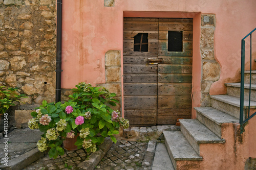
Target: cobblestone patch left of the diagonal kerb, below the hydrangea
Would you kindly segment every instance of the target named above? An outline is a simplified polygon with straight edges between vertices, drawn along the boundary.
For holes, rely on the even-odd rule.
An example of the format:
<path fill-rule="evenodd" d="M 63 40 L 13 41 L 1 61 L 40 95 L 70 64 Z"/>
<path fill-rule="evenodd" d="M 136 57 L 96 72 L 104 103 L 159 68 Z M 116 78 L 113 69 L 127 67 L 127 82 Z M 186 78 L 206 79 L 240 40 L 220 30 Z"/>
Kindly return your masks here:
<path fill-rule="evenodd" d="M 53 170 L 53 169 L 68 169 L 66 166 L 72 166 L 71 169 L 79 169 L 77 165 L 86 160 L 89 155 L 85 150 L 67 151 L 62 156 L 52 159 L 49 155 L 40 158 L 36 162 L 24 168 L 24 170 Z"/>

